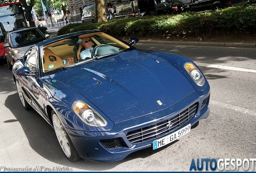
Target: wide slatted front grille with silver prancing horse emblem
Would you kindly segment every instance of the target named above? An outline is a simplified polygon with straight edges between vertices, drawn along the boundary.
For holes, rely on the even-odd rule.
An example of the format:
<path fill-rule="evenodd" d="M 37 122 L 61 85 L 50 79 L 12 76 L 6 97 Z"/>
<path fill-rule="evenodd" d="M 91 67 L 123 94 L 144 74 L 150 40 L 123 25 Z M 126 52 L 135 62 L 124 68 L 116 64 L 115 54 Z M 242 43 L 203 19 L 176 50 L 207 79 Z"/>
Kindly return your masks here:
<path fill-rule="evenodd" d="M 130 131 L 127 133 L 126 137 L 130 141 L 130 143 L 142 143 L 145 141 L 155 139 L 157 137 L 161 137 L 166 133 L 169 133 L 177 129 L 178 127 L 181 127 L 190 119 L 192 119 L 192 117 L 196 113 L 197 107 L 198 103 L 195 103 L 182 113 L 175 115 L 169 120 L 148 127 L 144 127 L 142 129 L 138 129 L 135 131 Z"/>

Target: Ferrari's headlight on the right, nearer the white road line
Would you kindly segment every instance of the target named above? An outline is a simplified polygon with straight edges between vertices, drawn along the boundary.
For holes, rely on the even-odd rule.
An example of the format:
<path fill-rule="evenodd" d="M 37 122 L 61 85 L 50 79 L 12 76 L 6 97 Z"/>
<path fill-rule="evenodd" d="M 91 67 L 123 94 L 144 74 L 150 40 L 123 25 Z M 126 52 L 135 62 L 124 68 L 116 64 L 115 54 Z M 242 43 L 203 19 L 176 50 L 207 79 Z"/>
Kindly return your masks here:
<path fill-rule="evenodd" d="M 204 77 L 201 72 L 196 68 L 196 66 L 190 62 L 186 62 L 184 64 L 184 68 L 188 72 L 188 74 L 192 77 L 192 79 L 196 82 L 198 86 L 204 85 Z"/>

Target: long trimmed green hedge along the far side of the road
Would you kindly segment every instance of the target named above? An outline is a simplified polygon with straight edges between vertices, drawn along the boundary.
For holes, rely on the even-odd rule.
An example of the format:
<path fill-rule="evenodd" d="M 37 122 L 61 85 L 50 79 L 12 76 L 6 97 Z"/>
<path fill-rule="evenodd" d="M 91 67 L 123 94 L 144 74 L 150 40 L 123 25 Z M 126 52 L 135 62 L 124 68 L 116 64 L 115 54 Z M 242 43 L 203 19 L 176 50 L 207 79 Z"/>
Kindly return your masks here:
<path fill-rule="evenodd" d="M 102 23 L 78 23 L 64 26 L 58 35 L 98 29 L 115 36 L 181 37 L 231 32 L 256 33 L 256 4 L 217 11 L 189 12 L 178 15 L 115 19 Z"/>

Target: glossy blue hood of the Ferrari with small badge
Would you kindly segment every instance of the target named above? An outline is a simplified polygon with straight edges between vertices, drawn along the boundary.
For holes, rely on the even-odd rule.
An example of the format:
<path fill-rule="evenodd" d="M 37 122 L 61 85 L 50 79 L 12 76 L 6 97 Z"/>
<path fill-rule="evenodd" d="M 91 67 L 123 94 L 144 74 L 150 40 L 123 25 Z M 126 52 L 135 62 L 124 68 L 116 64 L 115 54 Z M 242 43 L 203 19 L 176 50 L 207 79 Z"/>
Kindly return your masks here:
<path fill-rule="evenodd" d="M 194 91 L 188 79 L 167 61 L 138 50 L 58 72 L 51 78 L 83 95 L 114 123 L 160 111 Z"/>

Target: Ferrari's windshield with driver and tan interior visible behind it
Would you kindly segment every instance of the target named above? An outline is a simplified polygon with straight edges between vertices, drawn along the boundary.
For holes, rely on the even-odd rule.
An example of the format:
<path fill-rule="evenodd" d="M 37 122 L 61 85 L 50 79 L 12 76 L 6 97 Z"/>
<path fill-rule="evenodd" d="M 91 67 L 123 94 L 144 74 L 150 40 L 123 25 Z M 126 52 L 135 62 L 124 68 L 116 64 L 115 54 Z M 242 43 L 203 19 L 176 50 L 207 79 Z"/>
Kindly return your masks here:
<path fill-rule="evenodd" d="M 103 32 L 66 38 L 41 48 L 43 72 L 64 70 L 129 50 L 128 44 Z"/>

